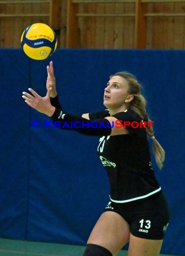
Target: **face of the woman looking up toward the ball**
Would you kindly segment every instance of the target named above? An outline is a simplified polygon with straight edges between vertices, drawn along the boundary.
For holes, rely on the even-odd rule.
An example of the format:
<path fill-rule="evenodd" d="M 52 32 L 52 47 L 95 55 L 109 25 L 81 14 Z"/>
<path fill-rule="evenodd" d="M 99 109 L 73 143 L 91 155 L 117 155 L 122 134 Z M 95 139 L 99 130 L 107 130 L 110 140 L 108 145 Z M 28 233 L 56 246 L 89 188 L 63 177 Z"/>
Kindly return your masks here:
<path fill-rule="evenodd" d="M 128 96 L 127 81 L 120 76 L 113 76 L 110 78 L 105 88 L 103 104 L 108 109 L 119 109 L 124 107 L 125 100 Z"/>

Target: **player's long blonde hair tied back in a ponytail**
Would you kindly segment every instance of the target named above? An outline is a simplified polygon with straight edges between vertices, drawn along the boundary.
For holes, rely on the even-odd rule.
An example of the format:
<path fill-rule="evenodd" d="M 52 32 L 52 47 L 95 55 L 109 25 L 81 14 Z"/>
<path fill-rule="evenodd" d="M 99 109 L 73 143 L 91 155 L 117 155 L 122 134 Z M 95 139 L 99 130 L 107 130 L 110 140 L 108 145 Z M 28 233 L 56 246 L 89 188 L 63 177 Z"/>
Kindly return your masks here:
<path fill-rule="evenodd" d="M 128 72 L 118 72 L 115 73 L 115 75 L 122 77 L 128 82 L 128 93 L 134 96 L 132 101 L 129 102 L 129 108 L 140 115 L 143 121 L 150 121 L 150 118 L 146 112 L 146 100 L 141 94 L 141 85 L 137 82 L 136 77 Z M 159 169 L 162 169 L 165 159 L 165 151 L 163 150 L 163 147 L 160 145 L 159 141 L 155 139 L 154 129 L 152 127 L 150 128 L 150 123 L 147 123 L 146 133 L 153 141 L 152 148 L 155 161 Z"/>

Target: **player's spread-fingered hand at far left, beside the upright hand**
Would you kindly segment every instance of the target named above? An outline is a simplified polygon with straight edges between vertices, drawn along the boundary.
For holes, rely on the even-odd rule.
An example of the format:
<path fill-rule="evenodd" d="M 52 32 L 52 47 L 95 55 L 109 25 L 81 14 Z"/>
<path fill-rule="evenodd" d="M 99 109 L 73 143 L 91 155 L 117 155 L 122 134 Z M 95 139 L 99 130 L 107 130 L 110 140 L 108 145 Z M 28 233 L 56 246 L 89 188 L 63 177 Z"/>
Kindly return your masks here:
<path fill-rule="evenodd" d="M 33 96 L 30 93 L 23 92 L 22 97 L 25 99 L 27 105 L 31 106 L 40 113 L 43 113 L 51 117 L 55 111 L 55 107 L 53 107 L 50 103 L 51 89 L 52 88 L 48 88 L 46 96 L 41 97 L 33 89 L 29 88 L 28 90 L 33 94 Z"/>

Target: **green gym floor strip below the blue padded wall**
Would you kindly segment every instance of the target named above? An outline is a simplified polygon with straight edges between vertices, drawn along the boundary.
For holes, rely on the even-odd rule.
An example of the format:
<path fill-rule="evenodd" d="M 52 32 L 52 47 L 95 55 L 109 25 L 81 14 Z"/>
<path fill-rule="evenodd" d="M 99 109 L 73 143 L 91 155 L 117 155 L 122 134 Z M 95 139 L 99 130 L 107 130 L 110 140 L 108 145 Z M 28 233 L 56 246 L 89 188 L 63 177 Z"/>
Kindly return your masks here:
<path fill-rule="evenodd" d="M 82 256 L 83 252 L 84 246 L 0 238 L 0 256 Z M 127 256 L 127 251 L 121 251 L 117 256 Z"/>

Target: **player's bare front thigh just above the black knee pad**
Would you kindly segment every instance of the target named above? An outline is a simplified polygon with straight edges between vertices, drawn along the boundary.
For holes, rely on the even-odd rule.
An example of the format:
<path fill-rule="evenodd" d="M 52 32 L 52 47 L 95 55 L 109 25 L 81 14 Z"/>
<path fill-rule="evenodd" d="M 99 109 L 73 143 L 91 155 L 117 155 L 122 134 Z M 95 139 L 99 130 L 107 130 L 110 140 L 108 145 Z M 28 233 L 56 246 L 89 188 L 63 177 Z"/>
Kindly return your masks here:
<path fill-rule="evenodd" d="M 105 247 L 114 255 L 128 243 L 129 236 L 129 225 L 122 216 L 116 212 L 104 212 L 94 226 L 88 243 Z"/>

